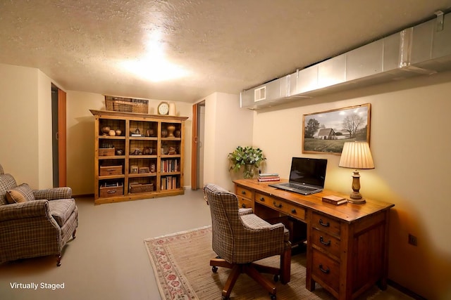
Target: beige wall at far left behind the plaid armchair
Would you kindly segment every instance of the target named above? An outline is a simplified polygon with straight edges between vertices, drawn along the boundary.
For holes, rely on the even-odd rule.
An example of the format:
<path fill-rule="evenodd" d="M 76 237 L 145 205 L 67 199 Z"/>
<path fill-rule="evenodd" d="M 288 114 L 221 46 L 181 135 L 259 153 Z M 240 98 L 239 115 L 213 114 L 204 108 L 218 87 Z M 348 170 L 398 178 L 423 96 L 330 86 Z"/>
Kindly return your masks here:
<path fill-rule="evenodd" d="M 18 184 L 51 188 L 51 79 L 0 64 L 0 164 Z"/>

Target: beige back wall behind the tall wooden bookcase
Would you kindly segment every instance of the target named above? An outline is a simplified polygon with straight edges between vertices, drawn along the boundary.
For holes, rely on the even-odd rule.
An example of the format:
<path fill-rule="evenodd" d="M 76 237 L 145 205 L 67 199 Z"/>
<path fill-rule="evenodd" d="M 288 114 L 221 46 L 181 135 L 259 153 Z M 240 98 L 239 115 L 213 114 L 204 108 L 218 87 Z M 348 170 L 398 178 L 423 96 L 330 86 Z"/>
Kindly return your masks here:
<path fill-rule="evenodd" d="M 160 100 L 149 100 L 149 113 L 155 114 Z M 191 183 L 192 104 L 175 102 L 178 116 L 185 121 L 184 185 Z M 104 96 L 80 91 L 67 92 L 68 185 L 74 195 L 94 193 L 94 116 L 89 110 L 104 110 Z"/>

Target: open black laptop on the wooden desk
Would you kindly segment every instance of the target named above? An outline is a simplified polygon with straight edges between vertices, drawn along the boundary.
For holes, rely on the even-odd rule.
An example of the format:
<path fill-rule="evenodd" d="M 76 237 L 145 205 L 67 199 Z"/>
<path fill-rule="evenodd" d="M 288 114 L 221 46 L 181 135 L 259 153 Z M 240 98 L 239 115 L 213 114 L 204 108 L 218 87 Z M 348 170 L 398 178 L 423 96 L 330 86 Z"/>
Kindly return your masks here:
<path fill-rule="evenodd" d="M 288 183 L 273 183 L 269 186 L 289 190 L 302 195 L 321 192 L 326 180 L 327 159 L 293 157 Z"/>

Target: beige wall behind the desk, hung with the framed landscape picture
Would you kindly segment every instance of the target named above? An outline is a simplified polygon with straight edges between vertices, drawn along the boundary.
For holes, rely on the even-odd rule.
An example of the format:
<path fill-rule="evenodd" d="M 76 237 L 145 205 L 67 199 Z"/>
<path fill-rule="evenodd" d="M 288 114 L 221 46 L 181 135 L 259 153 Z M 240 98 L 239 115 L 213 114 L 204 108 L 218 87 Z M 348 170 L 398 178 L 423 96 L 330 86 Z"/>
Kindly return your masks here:
<path fill-rule="evenodd" d="M 267 171 L 288 178 L 294 156 L 328 159 L 326 188 L 351 191 L 352 170 L 338 155 L 302 154 L 302 115 L 371 103 L 371 152 L 362 170 L 365 197 L 395 204 L 390 219 L 389 278 L 427 299 L 451 299 L 451 72 L 299 100 L 254 115 L 254 144 Z M 418 246 L 407 244 L 407 235 Z"/>

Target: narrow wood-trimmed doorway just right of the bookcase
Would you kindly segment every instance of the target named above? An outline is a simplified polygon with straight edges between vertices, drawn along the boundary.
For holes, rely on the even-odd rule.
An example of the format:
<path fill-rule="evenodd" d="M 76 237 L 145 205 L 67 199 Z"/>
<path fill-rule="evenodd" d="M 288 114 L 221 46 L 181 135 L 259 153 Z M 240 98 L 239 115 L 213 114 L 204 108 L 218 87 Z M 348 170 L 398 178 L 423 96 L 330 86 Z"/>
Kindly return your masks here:
<path fill-rule="evenodd" d="M 192 105 L 191 189 L 204 187 L 205 100 Z"/>

